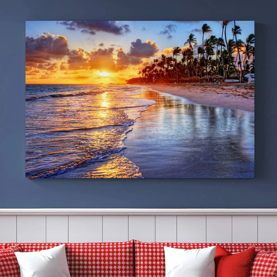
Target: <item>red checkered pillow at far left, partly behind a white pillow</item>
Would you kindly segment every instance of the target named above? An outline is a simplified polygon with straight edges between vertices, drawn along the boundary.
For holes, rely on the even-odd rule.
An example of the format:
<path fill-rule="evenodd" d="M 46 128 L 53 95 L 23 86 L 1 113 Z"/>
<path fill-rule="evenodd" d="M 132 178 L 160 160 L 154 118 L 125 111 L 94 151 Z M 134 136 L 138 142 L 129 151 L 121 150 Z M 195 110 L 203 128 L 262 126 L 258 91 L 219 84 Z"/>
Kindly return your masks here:
<path fill-rule="evenodd" d="M 20 245 L 0 249 L 0 276 L 20 277 L 20 268 L 14 252 L 23 252 Z"/>

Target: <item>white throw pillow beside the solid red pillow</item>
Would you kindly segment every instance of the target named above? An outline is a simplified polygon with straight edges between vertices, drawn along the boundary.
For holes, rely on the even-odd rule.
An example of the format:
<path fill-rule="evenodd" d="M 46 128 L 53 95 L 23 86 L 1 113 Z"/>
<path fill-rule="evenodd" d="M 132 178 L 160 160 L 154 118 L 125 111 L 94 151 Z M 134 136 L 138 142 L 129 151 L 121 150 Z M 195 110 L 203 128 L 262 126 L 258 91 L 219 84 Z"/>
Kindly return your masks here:
<path fill-rule="evenodd" d="M 166 277 L 214 277 L 216 246 L 201 249 L 164 247 Z"/>

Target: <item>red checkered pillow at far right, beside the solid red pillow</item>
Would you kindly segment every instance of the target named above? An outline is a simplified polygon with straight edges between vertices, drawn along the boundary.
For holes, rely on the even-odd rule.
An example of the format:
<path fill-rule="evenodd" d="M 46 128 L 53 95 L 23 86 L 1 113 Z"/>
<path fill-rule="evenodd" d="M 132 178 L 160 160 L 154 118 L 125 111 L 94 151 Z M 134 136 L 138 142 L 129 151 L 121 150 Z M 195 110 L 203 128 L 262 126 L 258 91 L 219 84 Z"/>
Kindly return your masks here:
<path fill-rule="evenodd" d="M 249 277 L 276 277 L 277 252 L 260 251 L 254 255 Z"/>

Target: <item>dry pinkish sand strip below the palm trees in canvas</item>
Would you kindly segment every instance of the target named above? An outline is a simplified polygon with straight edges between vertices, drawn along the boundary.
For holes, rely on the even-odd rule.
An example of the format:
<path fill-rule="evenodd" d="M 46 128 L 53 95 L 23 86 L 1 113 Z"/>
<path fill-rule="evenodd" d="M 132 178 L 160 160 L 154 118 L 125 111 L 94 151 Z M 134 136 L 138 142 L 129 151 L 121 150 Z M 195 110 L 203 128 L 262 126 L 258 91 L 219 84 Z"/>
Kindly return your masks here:
<path fill-rule="evenodd" d="M 142 84 L 146 88 L 187 98 L 201 105 L 254 112 L 253 84 Z"/>

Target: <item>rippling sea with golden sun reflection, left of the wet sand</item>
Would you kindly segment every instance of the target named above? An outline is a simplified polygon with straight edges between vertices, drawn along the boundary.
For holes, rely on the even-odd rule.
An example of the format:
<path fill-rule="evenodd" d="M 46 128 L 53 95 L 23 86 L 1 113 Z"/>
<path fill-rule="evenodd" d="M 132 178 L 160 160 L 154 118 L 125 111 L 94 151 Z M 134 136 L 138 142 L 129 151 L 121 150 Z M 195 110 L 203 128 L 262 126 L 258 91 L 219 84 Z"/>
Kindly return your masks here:
<path fill-rule="evenodd" d="M 26 85 L 26 177 L 131 178 L 124 139 L 155 101 L 125 85 Z"/>

